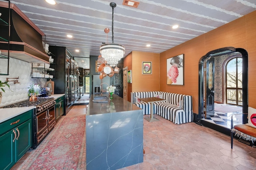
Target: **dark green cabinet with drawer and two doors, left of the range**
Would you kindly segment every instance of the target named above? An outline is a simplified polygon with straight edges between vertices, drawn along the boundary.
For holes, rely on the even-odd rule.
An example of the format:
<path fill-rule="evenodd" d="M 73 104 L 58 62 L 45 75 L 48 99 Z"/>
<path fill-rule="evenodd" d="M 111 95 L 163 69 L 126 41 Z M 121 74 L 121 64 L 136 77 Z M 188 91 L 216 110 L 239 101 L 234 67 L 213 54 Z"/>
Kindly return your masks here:
<path fill-rule="evenodd" d="M 32 113 L 0 123 L 0 169 L 10 169 L 32 146 Z"/>

